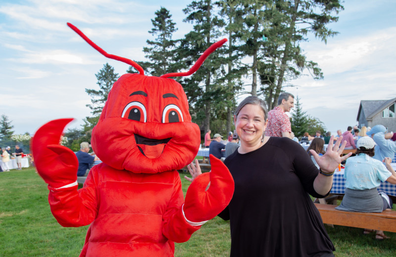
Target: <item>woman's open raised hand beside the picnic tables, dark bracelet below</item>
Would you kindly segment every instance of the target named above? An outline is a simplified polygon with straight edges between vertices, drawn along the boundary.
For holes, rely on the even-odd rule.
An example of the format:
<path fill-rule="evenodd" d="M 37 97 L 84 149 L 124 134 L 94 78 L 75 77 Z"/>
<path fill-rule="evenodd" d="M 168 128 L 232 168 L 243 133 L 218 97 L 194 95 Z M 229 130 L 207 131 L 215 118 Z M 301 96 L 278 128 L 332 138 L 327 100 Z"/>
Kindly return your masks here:
<path fill-rule="evenodd" d="M 313 155 L 313 158 L 315 158 L 316 163 L 319 165 L 320 169 L 323 172 L 326 173 L 331 173 L 335 171 L 338 167 L 338 165 L 346 160 L 349 156 L 352 155 L 352 153 L 348 153 L 347 155 L 344 155 L 341 157 L 340 155 L 343 153 L 345 145 L 347 144 L 347 141 L 344 141 L 341 144 L 341 141 L 343 139 L 343 136 L 340 136 L 337 138 L 336 143 L 333 146 L 334 143 L 334 135 L 330 137 L 329 144 L 327 146 L 327 151 L 326 153 L 322 156 L 319 157 L 319 155 L 314 151 L 314 150 L 309 150 L 310 153 Z M 341 144 L 341 146 L 340 146 Z"/>

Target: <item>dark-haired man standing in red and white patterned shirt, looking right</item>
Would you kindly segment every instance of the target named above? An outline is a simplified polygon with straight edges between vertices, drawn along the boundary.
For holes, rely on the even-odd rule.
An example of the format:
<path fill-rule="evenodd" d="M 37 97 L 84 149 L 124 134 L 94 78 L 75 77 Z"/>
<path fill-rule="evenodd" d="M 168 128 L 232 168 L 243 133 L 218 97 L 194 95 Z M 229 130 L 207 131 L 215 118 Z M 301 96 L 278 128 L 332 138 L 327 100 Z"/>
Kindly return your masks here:
<path fill-rule="evenodd" d="M 266 136 L 294 138 L 290 118 L 285 112 L 290 112 L 294 107 L 294 95 L 283 92 L 278 97 L 278 106 L 268 112 L 268 125 L 265 129 Z"/>

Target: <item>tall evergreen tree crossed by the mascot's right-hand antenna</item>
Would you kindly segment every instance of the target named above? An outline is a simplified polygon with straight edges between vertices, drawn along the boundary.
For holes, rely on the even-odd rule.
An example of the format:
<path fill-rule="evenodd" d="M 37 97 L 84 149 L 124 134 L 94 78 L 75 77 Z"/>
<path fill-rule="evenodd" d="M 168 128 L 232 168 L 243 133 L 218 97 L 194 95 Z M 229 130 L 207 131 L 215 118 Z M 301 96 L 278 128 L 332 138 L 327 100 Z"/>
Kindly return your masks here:
<path fill-rule="evenodd" d="M 179 68 L 185 69 L 191 67 L 204 50 L 219 40 L 219 29 L 224 26 L 224 22 L 214 13 L 211 0 L 193 1 L 183 12 L 187 14 L 184 22 L 194 24 L 193 31 L 185 35 L 178 48 L 178 63 L 185 65 Z M 224 75 L 221 51 L 221 48 L 214 51 L 196 73 L 189 78 L 183 78 L 182 85 L 189 99 L 193 121 L 203 123 L 201 130 L 204 131 L 209 129 L 212 120 L 213 103 L 220 102 L 215 99 L 221 97 L 223 92 L 224 85 L 219 81 Z"/>

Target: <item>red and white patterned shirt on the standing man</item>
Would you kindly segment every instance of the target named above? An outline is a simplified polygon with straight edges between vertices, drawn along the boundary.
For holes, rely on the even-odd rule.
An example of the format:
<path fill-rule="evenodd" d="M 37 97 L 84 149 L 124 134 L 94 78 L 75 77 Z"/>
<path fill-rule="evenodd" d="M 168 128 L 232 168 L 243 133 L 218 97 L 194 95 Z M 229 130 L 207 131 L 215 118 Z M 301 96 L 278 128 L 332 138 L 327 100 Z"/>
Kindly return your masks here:
<path fill-rule="evenodd" d="M 289 116 L 278 106 L 268 112 L 266 136 L 282 137 L 282 132 L 292 132 Z"/>

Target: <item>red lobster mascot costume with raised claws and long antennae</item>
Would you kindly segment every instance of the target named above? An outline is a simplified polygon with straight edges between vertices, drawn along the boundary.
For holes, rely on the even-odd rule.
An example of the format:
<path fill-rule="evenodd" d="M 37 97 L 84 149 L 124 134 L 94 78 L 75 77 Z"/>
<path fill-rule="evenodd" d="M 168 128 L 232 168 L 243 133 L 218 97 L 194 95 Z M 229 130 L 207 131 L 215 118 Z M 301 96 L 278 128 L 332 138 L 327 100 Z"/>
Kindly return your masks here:
<path fill-rule="evenodd" d="M 228 205 L 234 180 L 211 156 L 212 171 L 199 175 L 183 199 L 176 170 L 197 155 L 200 135 L 182 86 L 168 77 L 194 73 L 226 40 L 211 45 L 186 73 L 148 77 L 134 61 L 106 53 L 68 26 L 139 74 L 121 76 L 108 94 L 91 142 L 102 163 L 91 169 L 80 190 L 76 155 L 59 145 L 72 119 L 50 121 L 35 133 L 32 152 L 48 183 L 51 212 L 62 226 L 91 224 L 80 256 L 173 256 L 173 242 L 189 240 Z"/>

